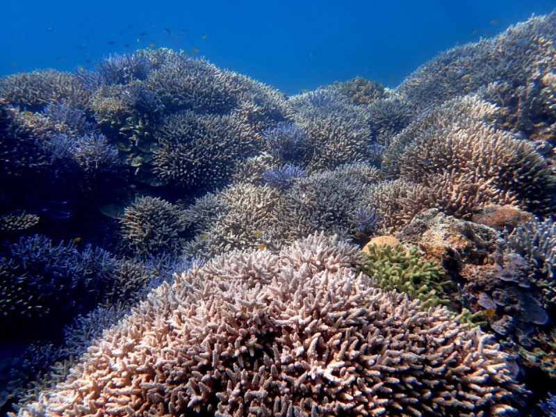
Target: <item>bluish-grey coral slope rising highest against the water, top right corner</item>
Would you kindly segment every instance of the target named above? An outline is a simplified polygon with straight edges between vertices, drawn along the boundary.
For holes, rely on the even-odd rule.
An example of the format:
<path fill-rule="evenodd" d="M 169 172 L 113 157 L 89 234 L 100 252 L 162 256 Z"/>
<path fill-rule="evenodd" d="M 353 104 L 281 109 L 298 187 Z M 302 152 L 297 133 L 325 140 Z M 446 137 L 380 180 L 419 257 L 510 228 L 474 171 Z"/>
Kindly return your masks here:
<path fill-rule="evenodd" d="M 539 68 L 556 65 L 555 22 L 556 13 L 532 17 L 495 38 L 445 51 L 408 76 L 396 92 L 420 113 L 493 81 L 527 85 Z"/>

